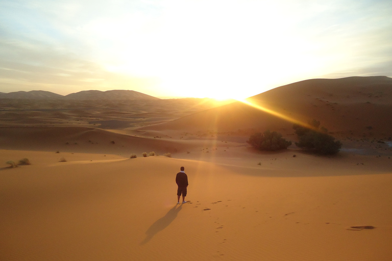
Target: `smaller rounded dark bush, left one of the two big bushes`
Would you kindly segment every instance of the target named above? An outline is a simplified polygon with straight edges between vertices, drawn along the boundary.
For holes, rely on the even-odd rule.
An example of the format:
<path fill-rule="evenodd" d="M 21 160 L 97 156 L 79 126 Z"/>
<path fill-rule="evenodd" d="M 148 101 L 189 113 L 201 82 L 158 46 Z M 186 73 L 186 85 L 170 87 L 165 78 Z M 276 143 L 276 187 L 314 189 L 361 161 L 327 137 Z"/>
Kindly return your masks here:
<path fill-rule="evenodd" d="M 291 145 L 291 141 L 286 141 L 282 135 L 277 132 L 265 131 L 253 134 L 247 141 L 253 147 L 259 150 L 280 150 L 287 149 Z"/>

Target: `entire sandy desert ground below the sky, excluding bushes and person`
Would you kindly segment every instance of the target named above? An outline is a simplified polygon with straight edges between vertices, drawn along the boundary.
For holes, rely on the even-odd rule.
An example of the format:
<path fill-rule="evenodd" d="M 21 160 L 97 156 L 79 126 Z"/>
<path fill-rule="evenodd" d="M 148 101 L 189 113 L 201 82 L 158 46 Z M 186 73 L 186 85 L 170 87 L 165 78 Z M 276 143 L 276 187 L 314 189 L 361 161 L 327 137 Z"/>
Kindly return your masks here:
<path fill-rule="evenodd" d="M 0 260 L 391 260 L 390 115 L 385 76 L 220 102 L 0 93 Z M 295 145 L 312 119 L 337 154 Z M 247 143 L 266 130 L 292 144 Z"/>

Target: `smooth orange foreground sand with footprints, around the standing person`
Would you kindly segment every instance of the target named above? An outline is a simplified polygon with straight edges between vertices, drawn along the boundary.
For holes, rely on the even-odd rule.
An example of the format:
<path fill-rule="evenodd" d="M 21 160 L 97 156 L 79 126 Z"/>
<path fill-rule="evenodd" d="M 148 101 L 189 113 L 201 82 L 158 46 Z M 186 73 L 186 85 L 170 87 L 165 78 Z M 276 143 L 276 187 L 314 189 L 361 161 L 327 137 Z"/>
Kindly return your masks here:
<path fill-rule="evenodd" d="M 9 169 L 3 163 L 26 156 L 32 165 Z M 60 163 L 59 156 L 74 158 Z M 0 159 L 2 260 L 392 256 L 386 156 L 332 159 L 288 151 L 206 162 L 196 155 L 125 159 L 0 150 Z M 180 166 L 189 177 L 189 202 L 177 205 Z"/>

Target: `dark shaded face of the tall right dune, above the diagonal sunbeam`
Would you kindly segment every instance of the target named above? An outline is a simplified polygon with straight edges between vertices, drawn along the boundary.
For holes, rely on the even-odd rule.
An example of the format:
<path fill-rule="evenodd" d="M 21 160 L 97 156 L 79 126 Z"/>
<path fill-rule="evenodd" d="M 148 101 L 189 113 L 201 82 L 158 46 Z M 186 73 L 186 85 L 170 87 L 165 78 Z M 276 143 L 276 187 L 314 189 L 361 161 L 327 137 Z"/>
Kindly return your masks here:
<path fill-rule="evenodd" d="M 307 122 L 320 120 L 331 132 L 387 135 L 392 123 L 392 79 L 385 76 L 313 79 L 249 98 L 279 113 Z"/>

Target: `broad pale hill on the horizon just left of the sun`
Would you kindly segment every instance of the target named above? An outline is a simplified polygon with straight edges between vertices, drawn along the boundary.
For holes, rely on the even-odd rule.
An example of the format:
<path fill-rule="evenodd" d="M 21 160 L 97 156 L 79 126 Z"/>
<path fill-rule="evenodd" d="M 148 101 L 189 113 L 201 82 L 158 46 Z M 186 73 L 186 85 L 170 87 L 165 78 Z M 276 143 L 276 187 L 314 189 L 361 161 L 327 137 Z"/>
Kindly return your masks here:
<path fill-rule="evenodd" d="M 159 98 L 130 90 L 111 90 L 111 91 L 81 91 L 71 93 L 64 96 L 64 99 L 75 99 L 75 100 L 159 100 Z"/>

